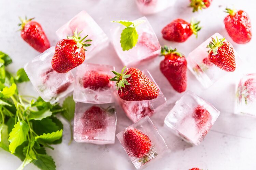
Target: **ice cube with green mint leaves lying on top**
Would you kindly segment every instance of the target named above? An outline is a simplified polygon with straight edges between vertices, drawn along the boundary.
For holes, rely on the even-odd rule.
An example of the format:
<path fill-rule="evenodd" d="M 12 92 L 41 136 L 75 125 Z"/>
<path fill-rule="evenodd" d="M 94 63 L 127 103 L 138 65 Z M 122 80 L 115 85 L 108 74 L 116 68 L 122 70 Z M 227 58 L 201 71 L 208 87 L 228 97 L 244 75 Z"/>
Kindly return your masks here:
<path fill-rule="evenodd" d="M 147 18 L 142 17 L 137 20 L 145 20 L 145 22 L 136 27 L 139 35 L 138 42 L 135 47 L 128 51 L 123 51 L 120 44 L 121 33 L 125 26 L 120 25 L 112 31 L 113 46 L 123 65 L 125 66 L 136 65 L 141 61 L 156 57 L 161 51 L 159 41 Z"/>

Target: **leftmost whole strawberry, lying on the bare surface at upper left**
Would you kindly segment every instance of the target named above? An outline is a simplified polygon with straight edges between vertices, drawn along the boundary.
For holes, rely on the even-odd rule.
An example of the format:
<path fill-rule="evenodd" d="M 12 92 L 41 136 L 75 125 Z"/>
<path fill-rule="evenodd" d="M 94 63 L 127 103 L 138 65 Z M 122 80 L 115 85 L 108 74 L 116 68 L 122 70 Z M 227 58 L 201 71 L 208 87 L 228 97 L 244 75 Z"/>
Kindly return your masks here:
<path fill-rule="evenodd" d="M 31 21 L 34 18 L 27 19 L 26 17 L 25 20 L 19 19 L 22 22 L 18 24 L 21 26 L 21 36 L 31 47 L 39 52 L 44 52 L 50 48 L 50 43 L 41 25 L 36 21 Z"/>

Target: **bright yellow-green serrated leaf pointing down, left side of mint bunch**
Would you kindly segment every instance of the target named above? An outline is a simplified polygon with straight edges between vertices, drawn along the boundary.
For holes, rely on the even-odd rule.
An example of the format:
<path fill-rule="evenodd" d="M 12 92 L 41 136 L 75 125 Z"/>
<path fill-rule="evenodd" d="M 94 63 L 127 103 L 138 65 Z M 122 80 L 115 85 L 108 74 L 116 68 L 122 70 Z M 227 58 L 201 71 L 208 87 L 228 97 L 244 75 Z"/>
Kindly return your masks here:
<path fill-rule="evenodd" d="M 24 141 L 27 140 L 27 134 L 29 131 L 28 124 L 25 121 L 18 121 L 14 128 L 12 129 L 12 132 L 10 133 L 9 137 L 9 150 L 13 154 L 15 152 L 15 149 L 20 146 Z"/>

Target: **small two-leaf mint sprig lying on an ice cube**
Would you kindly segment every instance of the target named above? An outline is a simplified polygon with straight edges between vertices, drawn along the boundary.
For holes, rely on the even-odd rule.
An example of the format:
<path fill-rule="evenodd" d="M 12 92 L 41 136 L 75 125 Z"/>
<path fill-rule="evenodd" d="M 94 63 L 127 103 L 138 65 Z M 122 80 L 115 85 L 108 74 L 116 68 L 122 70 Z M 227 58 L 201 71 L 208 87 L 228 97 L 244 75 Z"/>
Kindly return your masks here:
<path fill-rule="evenodd" d="M 128 51 L 136 46 L 138 42 L 138 32 L 136 30 L 136 27 L 145 22 L 145 20 L 137 20 L 137 21 L 126 21 L 126 20 L 120 20 L 120 21 L 112 21 L 117 22 L 122 25 L 124 25 L 126 28 L 121 33 L 121 39 L 120 44 L 123 49 L 123 51 Z"/>

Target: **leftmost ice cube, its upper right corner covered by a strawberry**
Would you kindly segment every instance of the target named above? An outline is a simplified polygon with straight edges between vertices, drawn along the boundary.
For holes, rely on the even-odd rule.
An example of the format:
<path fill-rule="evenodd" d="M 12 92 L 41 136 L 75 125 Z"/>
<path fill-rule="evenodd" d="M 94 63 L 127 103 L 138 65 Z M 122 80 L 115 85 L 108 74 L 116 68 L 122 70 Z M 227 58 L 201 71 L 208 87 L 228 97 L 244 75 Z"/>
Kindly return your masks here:
<path fill-rule="evenodd" d="M 28 78 L 46 102 L 56 103 L 74 89 L 74 76 L 71 71 L 57 73 L 52 68 L 55 47 L 47 49 L 24 66 Z"/>

